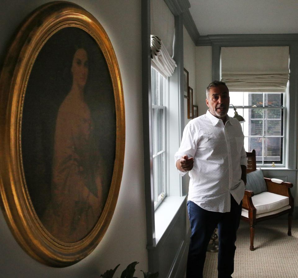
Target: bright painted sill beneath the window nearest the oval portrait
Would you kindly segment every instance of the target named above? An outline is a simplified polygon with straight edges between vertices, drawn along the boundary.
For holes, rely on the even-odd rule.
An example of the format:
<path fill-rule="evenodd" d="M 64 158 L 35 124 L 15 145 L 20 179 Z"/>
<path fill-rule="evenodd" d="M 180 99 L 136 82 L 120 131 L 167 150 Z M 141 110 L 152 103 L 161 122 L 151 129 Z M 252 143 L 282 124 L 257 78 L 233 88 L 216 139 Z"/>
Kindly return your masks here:
<path fill-rule="evenodd" d="M 168 196 L 155 211 L 155 242 L 156 245 L 162 238 L 166 229 L 171 224 L 179 208 L 183 205 L 186 196 Z"/>

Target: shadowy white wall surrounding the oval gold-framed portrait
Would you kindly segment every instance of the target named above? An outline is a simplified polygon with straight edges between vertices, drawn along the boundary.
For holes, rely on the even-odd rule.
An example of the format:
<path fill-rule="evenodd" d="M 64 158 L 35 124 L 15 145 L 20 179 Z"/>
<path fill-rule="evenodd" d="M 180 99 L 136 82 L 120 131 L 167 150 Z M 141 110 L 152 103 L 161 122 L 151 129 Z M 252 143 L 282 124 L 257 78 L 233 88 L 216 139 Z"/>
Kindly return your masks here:
<path fill-rule="evenodd" d="M 0 64 L 17 26 L 47 0 L 2 0 Z M 126 145 L 123 178 L 111 224 L 97 248 L 77 264 L 45 266 L 25 253 L 12 236 L 0 212 L 0 277 L 99 277 L 121 264 L 115 276 L 133 261 L 135 276 L 147 271 L 146 218 L 142 141 L 141 1 L 75 0 L 92 13 L 106 30 L 115 49 L 123 81 Z M 134 55 L 130 53 L 133 50 Z M 2 93 L 2 92 L 1 92 Z"/>

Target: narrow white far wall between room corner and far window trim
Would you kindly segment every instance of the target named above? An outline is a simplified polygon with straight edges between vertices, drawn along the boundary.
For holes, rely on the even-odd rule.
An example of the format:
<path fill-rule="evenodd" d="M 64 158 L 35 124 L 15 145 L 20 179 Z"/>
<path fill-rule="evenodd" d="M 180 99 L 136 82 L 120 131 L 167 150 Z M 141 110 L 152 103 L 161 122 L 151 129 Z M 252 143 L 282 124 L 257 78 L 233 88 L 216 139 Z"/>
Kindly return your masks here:
<path fill-rule="evenodd" d="M 206 87 L 212 82 L 212 47 L 196 47 L 196 101 L 198 115 L 206 113 Z"/>

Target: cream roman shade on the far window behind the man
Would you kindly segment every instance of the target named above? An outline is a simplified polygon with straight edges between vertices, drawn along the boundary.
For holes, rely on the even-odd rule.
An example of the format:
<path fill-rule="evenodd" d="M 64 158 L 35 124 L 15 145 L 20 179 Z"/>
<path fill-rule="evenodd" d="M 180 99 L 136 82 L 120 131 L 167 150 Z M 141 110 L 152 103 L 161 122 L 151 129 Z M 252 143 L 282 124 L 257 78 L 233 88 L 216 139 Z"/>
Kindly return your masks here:
<path fill-rule="evenodd" d="M 230 91 L 285 92 L 288 46 L 222 47 L 221 80 Z"/>

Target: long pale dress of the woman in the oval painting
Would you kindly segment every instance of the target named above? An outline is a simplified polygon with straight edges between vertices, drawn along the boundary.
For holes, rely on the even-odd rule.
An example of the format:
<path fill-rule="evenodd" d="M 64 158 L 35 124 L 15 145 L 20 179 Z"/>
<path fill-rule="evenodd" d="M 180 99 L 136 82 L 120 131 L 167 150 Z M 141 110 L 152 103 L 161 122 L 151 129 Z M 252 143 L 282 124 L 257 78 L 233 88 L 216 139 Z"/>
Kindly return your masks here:
<path fill-rule="evenodd" d="M 103 167 L 96 146 L 87 104 L 68 94 L 56 120 L 52 196 L 43 221 L 63 242 L 84 238 L 101 215 Z"/>

